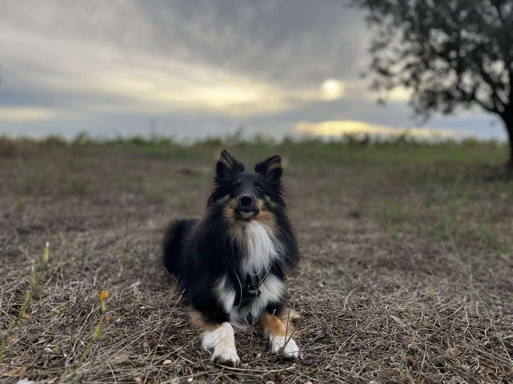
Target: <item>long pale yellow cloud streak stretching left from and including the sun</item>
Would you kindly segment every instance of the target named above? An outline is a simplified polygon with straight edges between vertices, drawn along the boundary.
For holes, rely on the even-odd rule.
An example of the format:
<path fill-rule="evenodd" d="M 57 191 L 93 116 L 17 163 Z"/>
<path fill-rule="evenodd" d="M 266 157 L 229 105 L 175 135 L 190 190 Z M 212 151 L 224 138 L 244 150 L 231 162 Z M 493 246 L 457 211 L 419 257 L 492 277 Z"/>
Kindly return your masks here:
<path fill-rule="evenodd" d="M 304 87 L 259 79 L 248 73 L 217 68 L 207 63 L 139 53 L 103 42 L 70 38 L 48 41 L 43 36 L 0 36 L 9 50 L 43 58 L 44 68 L 29 68 L 24 79 L 32 85 L 70 95 L 111 97 L 124 102 L 106 106 L 89 103 L 86 110 L 164 113 L 171 111 L 216 112 L 228 116 L 273 114 L 300 108 L 304 103 L 342 96 L 343 83 L 326 80 L 322 87 Z M 36 48 L 34 48 L 36 47 Z M 66 55 L 54 55 L 66 52 Z M 96 54 L 92 54 L 96 52 Z M 13 61 L 30 61 L 19 55 Z M 51 71 L 45 70 L 51 68 Z M 116 109 L 119 106 L 119 109 Z M 77 105 L 80 108 L 80 105 Z"/>

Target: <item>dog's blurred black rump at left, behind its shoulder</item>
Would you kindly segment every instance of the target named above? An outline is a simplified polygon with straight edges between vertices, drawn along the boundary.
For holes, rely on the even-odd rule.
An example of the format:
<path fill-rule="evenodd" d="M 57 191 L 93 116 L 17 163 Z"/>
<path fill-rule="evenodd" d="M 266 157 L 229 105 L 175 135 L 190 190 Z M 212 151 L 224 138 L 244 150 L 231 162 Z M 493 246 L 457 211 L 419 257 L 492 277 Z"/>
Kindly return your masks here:
<path fill-rule="evenodd" d="M 184 241 L 197 221 L 195 219 L 174 221 L 166 229 L 162 261 L 170 273 L 180 274 L 180 259 L 184 251 Z"/>

